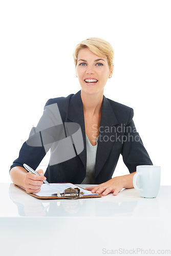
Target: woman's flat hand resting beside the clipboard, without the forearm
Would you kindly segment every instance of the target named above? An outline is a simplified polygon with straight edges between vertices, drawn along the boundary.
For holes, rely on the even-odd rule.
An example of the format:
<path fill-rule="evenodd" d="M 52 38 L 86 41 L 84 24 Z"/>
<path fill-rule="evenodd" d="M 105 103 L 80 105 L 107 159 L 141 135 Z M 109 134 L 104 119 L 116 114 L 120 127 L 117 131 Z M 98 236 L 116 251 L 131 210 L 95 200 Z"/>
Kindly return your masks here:
<path fill-rule="evenodd" d="M 117 196 L 123 187 L 124 176 L 118 176 L 99 185 L 86 187 L 86 189 L 90 190 L 92 193 L 102 194 L 102 196 L 106 196 L 109 193 L 113 193 L 114 196 Z"/>

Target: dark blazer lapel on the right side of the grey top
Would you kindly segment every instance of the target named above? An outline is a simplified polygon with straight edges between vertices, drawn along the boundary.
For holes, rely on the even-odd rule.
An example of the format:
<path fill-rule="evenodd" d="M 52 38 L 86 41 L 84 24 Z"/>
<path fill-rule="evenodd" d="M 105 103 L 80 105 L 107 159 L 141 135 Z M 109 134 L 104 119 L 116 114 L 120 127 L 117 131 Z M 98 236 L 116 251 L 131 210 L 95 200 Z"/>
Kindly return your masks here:
<path fill-rule="evenodd" d="M 100 173 L 100 170 L 102 169 L 111 152 L 114 143 L 113 137 L 111 136 L 115 136 L 115 130 L 112 129 L 112 126 L 116 124 L 118 124 L 118 120 L 115 116 L 112 106 L 108 99 L 103 96 L 98 147 L 96 154 L 95 178 Z"/>

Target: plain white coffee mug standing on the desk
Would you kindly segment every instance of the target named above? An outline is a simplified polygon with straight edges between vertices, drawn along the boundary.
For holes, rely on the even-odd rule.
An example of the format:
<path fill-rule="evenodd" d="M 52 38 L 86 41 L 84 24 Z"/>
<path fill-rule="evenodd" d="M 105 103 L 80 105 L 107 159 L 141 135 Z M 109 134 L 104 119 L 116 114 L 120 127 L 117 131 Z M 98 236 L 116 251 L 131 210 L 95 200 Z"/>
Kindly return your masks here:
<path fill-rule="evenodd" d="M 133 178 L 133 185 L 140 197 L 157 197 L 160 189 L 161 167 L 155 165 L 138 165 Z"/>

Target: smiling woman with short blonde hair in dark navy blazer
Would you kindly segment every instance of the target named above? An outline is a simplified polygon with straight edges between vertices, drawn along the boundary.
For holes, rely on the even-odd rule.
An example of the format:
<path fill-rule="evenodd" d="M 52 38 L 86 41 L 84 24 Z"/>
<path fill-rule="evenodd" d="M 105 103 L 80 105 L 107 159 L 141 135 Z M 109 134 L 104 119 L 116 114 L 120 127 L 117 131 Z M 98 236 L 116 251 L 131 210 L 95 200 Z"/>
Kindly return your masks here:
<path fill-rule="evenodd" d="M 49 121 L 54 119 L 56 111 L 52 113 L 50 108 L 57 103 L 61 115 L 59 123 L 78 123 L 83 138 L 83 150 L 79 154 L 48 165 L 45 176 L 49 182 L 98 184 L 87 189 L 103 196 L 109 193 L 116 196 L 122 188 L 133 188 L 137 165 L 152 165 L 135 129 L 133 109 L 103 96 L 104 86 L 112 77 L 113 57 L 112 46 L 103 39 L 89 38 L 80 42 L 74 51 L 74 61 L 81 91 L 47 102 L 48 110 L 44 111 L 39 123 L 45 117 Z M 51 155 L 56 151 L 57 157 L 61 151 L 55 145 L 51 147 Z M 40 176 L 27 173 L 23 163 L 36 169 L 45 154 L 45 147 L 33 147 L 25 142 L 11 166 L 12 181 L 26 188 L 28 193 L 40 191 L 46 179 L 43 171 L 37 171 Z M 120 154 L 130 174 L 112 178 Z"/>

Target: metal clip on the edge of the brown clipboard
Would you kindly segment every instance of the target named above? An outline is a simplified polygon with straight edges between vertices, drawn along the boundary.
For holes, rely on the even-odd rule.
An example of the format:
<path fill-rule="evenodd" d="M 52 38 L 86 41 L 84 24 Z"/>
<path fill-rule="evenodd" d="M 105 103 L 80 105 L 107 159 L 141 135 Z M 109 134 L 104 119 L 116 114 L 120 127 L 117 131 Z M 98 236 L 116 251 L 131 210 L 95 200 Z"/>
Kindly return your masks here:
<path fill-rule="evenodd" d="M 52 194 L 52 196 L 62 197 L 66 199 L 79 199 L 83 196 L 83 192 L 80 192 L 78 187 L 69 187 L 64 190 L 63 193 L 57 192 L 57 194 Z"/>

